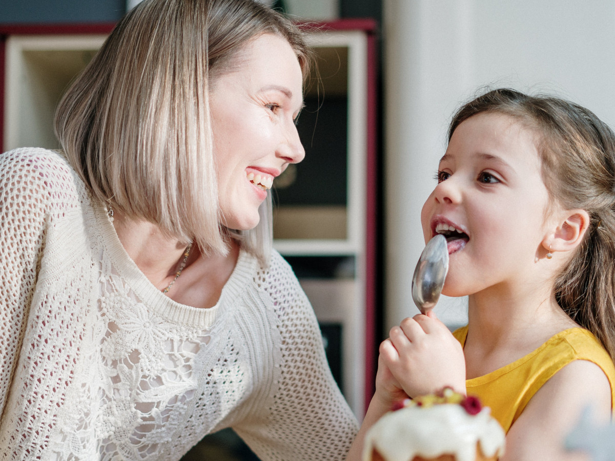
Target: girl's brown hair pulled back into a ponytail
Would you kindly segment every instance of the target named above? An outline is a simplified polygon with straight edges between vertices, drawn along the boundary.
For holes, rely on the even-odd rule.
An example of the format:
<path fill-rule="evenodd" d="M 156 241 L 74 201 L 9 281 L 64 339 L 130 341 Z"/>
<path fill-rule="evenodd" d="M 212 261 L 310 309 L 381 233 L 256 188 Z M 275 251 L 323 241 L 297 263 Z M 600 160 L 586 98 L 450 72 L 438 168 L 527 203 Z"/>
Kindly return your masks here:
<path fill-rule="evenodd" d="M 549 95 L 488 91 L 453 116 L 455 128 L 481 112 L 514 117 L 540 135 L 542 178 L 566 210 L 587 211 L 584 240 L 555 281 L 555 298 L 615 360 L 615 134 L 593 112 Z"/>

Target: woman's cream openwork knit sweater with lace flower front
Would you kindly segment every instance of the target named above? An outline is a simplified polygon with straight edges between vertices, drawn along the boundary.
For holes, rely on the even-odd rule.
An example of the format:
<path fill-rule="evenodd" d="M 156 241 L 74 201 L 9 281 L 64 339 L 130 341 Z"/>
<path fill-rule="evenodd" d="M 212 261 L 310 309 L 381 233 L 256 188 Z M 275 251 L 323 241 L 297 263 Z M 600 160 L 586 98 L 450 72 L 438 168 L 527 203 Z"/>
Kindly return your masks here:
<path fill-rule="evenodd" d="M 225 427 L 263 460 L 344 458 L 357 422 L 279 254 L 177 304 L 44 149 L 0 156 L 0 216 L 0 460 L 177 460 Z"/>

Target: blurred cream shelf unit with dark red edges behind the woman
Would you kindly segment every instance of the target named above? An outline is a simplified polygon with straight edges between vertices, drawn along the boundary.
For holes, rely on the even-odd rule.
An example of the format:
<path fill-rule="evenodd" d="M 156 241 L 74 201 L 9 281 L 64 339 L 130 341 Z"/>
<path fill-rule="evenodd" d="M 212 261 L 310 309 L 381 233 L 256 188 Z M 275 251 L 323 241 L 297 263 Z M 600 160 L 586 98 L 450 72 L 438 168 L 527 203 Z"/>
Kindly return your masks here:
<path fill-rule="evenodd" d="M 0 24 L 3 152 L 59 147 L 55 106 L 112 28 Z M 308 293 L 325 344 L 339 349 L 328 351 L 339 362 L 331 366 L 362 418 L 373 393 L 378 349 L 376 25 L 345 19 L 307 31 L 316 66 L 298 121 L 306 158 L 274 184 L 274 247 Z"/>

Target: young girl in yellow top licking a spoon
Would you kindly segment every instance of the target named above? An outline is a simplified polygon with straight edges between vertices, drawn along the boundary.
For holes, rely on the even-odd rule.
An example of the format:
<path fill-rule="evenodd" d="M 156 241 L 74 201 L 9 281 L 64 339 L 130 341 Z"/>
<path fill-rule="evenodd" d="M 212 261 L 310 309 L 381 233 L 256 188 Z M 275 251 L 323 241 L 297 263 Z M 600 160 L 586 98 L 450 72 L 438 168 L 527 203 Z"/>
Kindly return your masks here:
<path fill-rule="evenodd" d="M 448 240 L 443 293 L 469 295 L 469 323 L 402 321 L 381 374 L 410 397 L 479 396 L 506 460 L 564 459 L 583 409 L 608 420 L 615 400 L 615 135 L 576 104 L 498 89 L 448 138 L 421 222 Z"/>

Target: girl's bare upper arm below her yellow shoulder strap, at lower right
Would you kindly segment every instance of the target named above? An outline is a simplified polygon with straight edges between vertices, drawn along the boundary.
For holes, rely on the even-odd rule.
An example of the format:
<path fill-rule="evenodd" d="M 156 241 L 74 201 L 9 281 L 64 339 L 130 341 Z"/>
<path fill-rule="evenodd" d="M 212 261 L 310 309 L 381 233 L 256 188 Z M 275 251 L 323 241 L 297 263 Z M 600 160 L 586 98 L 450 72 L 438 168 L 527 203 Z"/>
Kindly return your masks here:
<path fill-rule="evenodd" d="M 501 461 L 579 459 L 564 451 L 564 441 L 587 406 L 605 424 L 611 416 L 611 387 L 598 365 L 575 360 L 531 398 L 506 436 Z"/>

